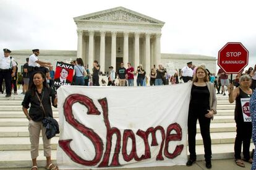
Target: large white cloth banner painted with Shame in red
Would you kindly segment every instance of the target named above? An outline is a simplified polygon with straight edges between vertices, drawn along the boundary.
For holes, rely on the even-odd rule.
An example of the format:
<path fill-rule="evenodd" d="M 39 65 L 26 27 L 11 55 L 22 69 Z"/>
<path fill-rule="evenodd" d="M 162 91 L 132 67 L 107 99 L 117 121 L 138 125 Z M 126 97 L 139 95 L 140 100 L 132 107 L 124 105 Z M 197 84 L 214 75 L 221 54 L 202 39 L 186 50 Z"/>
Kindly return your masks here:
<path fill-rule="evenodd" d="M 189 100 L 189 83 L 59 88 L 59 168 L 186 164 Z"/>

